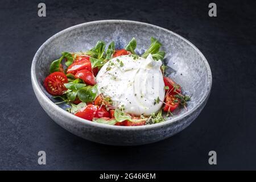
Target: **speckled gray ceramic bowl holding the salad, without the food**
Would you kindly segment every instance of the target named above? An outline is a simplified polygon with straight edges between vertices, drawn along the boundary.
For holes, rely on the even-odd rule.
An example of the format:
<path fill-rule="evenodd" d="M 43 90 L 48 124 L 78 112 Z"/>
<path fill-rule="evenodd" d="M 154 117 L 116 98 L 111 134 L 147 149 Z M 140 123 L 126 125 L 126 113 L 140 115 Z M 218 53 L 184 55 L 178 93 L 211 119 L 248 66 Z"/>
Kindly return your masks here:
<path fill-rule="evenodd" d="M 109 126 L 86 121 L 57 106 L 43 87 L 44 78 L 49 74 L 49 64 L 60 57 L 63 51 L 85 51 L 98 40 L 106 43 L 114 40 L 118 48 L 137 39 L 137 52 L 143 52 L 154 36 L 166 51 L 164 62 L 170 76 L 179 83 L 183 92 L 192 95 L 188 111 L 179 110 L 166 122 L 147 126 Z M 170 30 L 147 23 L 128 20 L 102 20 L 79 24 L 63 30 L 49 38 L 36 52 L 31 67 L 32 86 L 40 105 L 46 113 L 64 129 L 93 142 L 135 146 L 157 142 L 171 137 L 185 129 L 200 114 L 207 103 L 212 86 L 212 74 L 203 54 L 188 40 Z M 46 131 L 47 132 L 47 131 Z"/>

